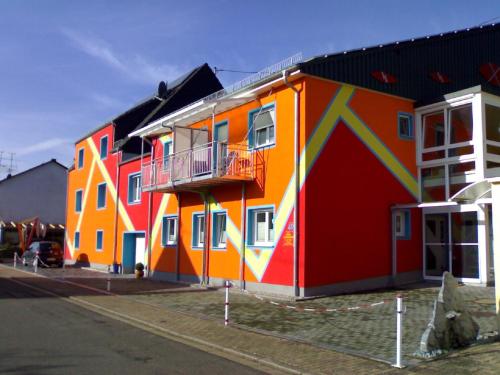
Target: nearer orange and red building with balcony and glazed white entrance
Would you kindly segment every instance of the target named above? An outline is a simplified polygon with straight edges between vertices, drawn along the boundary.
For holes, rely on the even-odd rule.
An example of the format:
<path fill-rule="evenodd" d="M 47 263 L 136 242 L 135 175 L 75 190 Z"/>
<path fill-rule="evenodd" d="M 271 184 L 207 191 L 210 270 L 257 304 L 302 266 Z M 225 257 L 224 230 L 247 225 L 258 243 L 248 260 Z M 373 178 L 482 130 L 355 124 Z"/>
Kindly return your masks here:
<path fill-rule="evenodd" d="M 151 151 L 121 169 L 145 242 L 120 222 L 95 263 L 292 296 L 490 282 L 491 198 L 461 194 L 500 174 L 499 42 L 490 25 L 297 55 L 143 121 L 128 139 Z"/>

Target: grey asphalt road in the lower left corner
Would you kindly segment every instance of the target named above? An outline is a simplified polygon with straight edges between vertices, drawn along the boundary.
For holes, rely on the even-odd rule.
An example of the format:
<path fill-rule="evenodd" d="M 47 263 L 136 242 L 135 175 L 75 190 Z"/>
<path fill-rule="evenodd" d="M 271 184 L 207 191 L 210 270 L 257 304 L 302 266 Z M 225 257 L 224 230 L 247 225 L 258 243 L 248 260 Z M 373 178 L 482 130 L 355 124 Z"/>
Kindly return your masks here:
<path fill-rule="evenodd" d="M 257 374 L 0 278 L 0 374 Z"/>

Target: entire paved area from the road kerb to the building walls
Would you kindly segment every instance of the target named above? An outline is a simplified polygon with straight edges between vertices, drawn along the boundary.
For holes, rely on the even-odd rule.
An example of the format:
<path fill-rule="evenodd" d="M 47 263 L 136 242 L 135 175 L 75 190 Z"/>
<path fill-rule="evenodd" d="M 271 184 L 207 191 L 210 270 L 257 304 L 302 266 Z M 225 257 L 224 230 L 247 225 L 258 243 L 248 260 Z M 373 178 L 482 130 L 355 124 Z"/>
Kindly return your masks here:
<path fill-rule="evenodd" d="M 221 318 L 224 294 L 220 290 L 201 289 L 147 279 L 135 280 L 74 268 L 64 271 L 40 269 L 39 274 L 48 278 L 30 273 L 29 268 L 28 272 L 25 268 L 22 268 L 22 271 L 0 265 L 0 278 L 10 278 L 16 282 L 55 293 L 79 305 L 76 311 L 82 310 L 77 314 L 85 314 L 85 309 L 90 308 L 102 315 L 120 319 L 151 333 L 171 337 L 212 353 L 222 353 L 221 355 L 229 359 L 243 361 L 243 364 L 251 367 L 260 364 L 258 369 L 264 372 L 497 375 L 500 371 L 500 342 L 472 346 L 435 361 L 412 363 L 406 361 L 410 366 L 399 370 L 388 364 L 350 355 L 347 350 L 342 350 L 342 347 L 332 350 L 333 345 L 328 348 L 320 343 L 311 345 L 312 340 L 308 342 L 297 336 L 291 339 L 293 335 L 280 333 L 289 327 L 304 336 L 310 334 L 310 337 L 315 337 L 317 335 L 328 340 L 335 339 L 335 335 L 344 334 L 346 341 L 344 345 L 358 345 L 360 348 L 368 348 L 373 352 L 383 351 L 384 347 L 389 347 L 386 344 L 387 341 L 384 341 L 387 339 L 380 334 L 377 343 L 376 335 L 377 332 L 383 332 L 383 328 L 379 328 L 378 325 L 386 324 L 383 318 L 384 311 L 392 315 L 392 302 L 374 306 L 370 310 L 372 313 L 368 313 L 364 308 L 361 312 L 341 311 L 332 314 L 328 319 L 335 319 L 335 325 L 325 325 L 324 311 L 308 312 L 303 311 L 303 308 L 347 307 L 352 306 L 356 301 L 366 303 L 379 300 L 384 298 L 385 294 L 392 295 L 394 291 L 337 296 L 297 303 L 278 301 L 283 306 L 293 305 L 298 308 L 298 310 L 291 310 L 273 305 L 269 303 L 269 300 L 261 301 L 250 295 L 241 295 L 235 290 L 231 294 L 231 325 L 224 327 Z M 112 293 L 105 291 L 108 277 L 111 278 Z M 491 289 L 476 287 L 462 288 L 462 290 L 464 290 L 466 300 L 473 307 L 474 315 L 480 322 L 482 330 L 491 329 L 492 313 L 489 297 Z M 409 304 L 409 309 L 411 307 L 412 310 L 419 311 L 418 305 L 425 305 L 431 301 L 435 293 L 435 288 L 406 291 L 407 296 L 413 300 L 413 304 Z M 424 316 L 426 307 L 421 308 L 419 314 Z M 382 315 L 377 316 L 377 314 Z M 364 317 L 364 320 L 360 320 L 359 317 Z M 100 315 L 97 319 L 107 321 Z M 378 322 L 378 319 L 381 319 L 381 322 Z M 411 316 L 407 319 L 409 324 L 413 324 L 411 319 L 413 319 Z M 242 321 L 247 323 L 242 324 Z M 414 321 L 418 322 L 418 319 Z M 415 329 L 409 324 L 405 325 L 406 337 L 417 337 L 418 327 Z M 336 329 L 325 328 L 332 326 Z M 298 330 L 300 327 L 304 328 L 302 332 Z M 366 342 L 363 342 L 362 334 L 367 327 L 373 327 L 374 333 L 367 337 Z M 354 334 L 349 335 L 349 331 Z M 97 340 L 99 339 L 97 337 Z M 338 340 L 341 342 L 340 339 Z M 149 346 L 145 345 L 144 348 L 147 348 L 144 353 L 151 356 Z"/>

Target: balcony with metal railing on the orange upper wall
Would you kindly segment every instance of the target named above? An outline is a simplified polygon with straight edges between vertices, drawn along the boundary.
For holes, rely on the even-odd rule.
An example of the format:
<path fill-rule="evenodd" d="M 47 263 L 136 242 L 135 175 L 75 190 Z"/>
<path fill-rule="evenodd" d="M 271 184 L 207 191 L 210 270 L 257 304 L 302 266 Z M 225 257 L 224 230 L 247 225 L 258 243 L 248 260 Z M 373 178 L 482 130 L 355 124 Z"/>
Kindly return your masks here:
<path fill-rule="evenodd" d="M 210 142 L 144 163 L 142 189 L 173 193 L 252 181 L 254 159 L 246 144 Z"/>

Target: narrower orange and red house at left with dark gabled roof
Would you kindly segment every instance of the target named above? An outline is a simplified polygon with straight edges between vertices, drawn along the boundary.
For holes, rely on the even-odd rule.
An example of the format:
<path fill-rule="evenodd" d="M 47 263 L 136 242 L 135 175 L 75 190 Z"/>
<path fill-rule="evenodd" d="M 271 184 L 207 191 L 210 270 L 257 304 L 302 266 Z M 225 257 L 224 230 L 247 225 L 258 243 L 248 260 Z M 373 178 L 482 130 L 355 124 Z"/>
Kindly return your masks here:
<path fill-rule="evenodd" d="M 65 255 L 67 262 L 97 268 L 120 265 L 131 272 L 143 261 L 150 196 L 141 192 L 141 162 L 150 146 L 128 134 L 222 88 L 205 64 L 178 79 L 160 83 L 146 98 L 75 143 L 75 163 L 68 173 Z M 123 247 L 137 248 L 123 258 Z M 143 258 L 140 258 L 140 257 Z M 137 259 L 136 259 L 137 258 Z"/>

